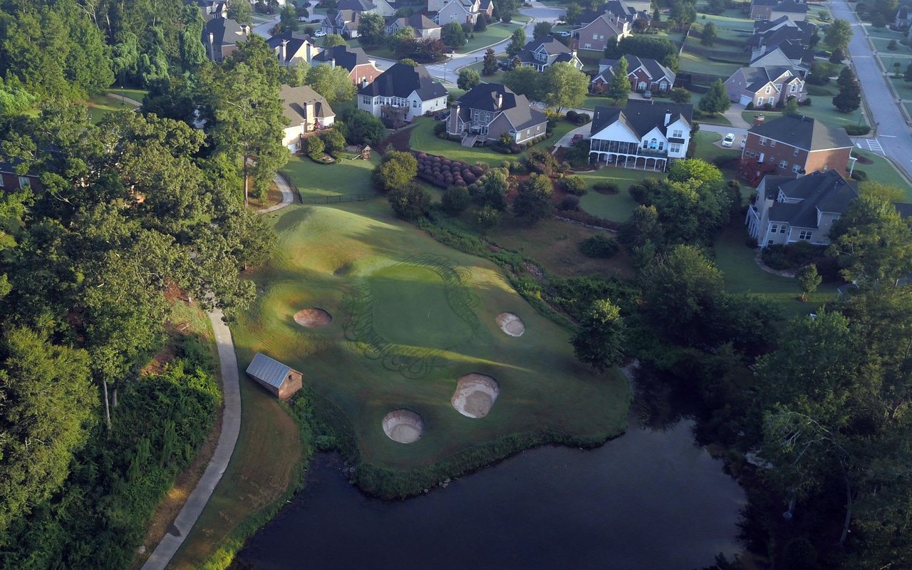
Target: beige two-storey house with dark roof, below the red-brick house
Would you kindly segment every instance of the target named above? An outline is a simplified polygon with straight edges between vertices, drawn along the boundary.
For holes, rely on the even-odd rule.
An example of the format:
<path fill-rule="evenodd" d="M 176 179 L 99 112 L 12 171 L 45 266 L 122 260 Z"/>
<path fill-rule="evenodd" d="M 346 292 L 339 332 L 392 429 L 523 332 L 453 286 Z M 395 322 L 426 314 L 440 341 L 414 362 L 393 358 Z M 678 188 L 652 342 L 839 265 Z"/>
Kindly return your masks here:
<path fill-rule="evenodd" d="M 747 232 L 760 247 L 805 242 L 830 243 L 830 230 L 858 197 L 853 182 L 837 171 L 801 178 L 767 174 L 747 210 Z"/>

